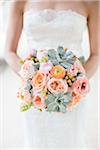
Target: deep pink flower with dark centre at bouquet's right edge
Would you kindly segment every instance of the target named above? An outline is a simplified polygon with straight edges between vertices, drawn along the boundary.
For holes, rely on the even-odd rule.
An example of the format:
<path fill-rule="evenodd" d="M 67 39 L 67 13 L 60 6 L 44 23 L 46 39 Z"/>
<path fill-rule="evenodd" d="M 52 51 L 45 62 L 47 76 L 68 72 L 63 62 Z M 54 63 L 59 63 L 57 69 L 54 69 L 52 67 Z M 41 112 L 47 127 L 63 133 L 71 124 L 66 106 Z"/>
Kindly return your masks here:
<path fill-rule="evenodd" d="M 85 76 L 79 77 L 73 84 L 72 89 L 73 89 L 73 91 L 75 91 L 76 93 L 79 93 L 81 95 L 86 94 L 89 90 L 88 79 Z"/>

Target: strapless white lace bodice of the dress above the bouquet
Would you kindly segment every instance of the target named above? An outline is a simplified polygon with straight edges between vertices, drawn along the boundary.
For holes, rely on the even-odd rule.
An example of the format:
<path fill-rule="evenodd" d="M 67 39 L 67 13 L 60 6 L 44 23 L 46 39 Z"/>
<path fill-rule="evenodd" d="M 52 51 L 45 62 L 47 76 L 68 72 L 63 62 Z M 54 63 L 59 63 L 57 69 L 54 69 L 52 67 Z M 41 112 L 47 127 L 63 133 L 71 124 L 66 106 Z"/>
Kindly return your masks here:
<path fill-rule="evenodd" d="M 23 29 L 29 49 L 64 46 L 80 55 L 87 18 L 72 10 L 32 9 L 24 13 Z"/>

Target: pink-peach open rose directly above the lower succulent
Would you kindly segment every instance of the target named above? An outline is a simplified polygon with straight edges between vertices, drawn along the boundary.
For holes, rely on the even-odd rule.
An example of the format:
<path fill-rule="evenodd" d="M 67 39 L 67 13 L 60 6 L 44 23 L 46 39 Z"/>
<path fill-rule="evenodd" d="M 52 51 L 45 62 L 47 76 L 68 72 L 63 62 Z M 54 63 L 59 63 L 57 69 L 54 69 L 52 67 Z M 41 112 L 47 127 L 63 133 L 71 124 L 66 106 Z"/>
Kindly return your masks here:
<path fill-rule="evenodd" d="M 68 85 L 63 79 L 51 78 L 47 83 L 48 90 L 51 93 L 67 92 Z"/>

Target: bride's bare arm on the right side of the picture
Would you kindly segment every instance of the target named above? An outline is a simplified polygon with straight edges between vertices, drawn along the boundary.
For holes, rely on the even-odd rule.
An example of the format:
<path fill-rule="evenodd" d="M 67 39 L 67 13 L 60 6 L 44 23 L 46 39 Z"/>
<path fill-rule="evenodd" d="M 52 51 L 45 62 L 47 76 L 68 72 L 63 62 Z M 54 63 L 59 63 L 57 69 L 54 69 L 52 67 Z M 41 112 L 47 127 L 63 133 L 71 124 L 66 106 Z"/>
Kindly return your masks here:
<path fill-rule="evenodd" d="M 98 41 L 99 41 L 99 16 L 98 3 L 91 3 L 88 6 L 88 29 L 90 39 L 90 58 L 88 59 L 85 69 L 87 76 L 91 78 L 98 67 Z"/>

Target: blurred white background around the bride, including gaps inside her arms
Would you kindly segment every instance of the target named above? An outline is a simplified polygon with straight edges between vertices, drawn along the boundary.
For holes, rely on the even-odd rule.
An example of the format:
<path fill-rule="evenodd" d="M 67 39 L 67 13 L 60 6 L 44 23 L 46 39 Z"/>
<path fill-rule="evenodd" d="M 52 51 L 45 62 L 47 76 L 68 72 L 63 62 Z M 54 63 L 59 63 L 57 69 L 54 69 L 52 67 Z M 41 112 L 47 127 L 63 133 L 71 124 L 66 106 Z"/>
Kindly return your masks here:
<path fill-rule="evenodd" d="M 4 61 L 4 45 L 10 3 L 9 0 L 0 0 L 0 146 L 2 150 L 22 150 L 24 145 L 23 113 L 19 111 L 19 100 L 16 97 L 20 79 Z M 87 49 L 89 50 L 88 35 L 84 33 L 84 39 L 86 40 L 86 38 L 87 43 L 85 42 L 83 45 L 85 45 L 87 51 Z M 27 49 L 24 33 L 22 33 L 18 49 L 24 49 L 24 51 Z M 89 55 L 89 52 L 87 55 Z M 86 139 L 90 150 L 97 150 L 98 145 L 99 82 L 98 69 L 90 80 L 91 96 L 87 96 Z"/>

